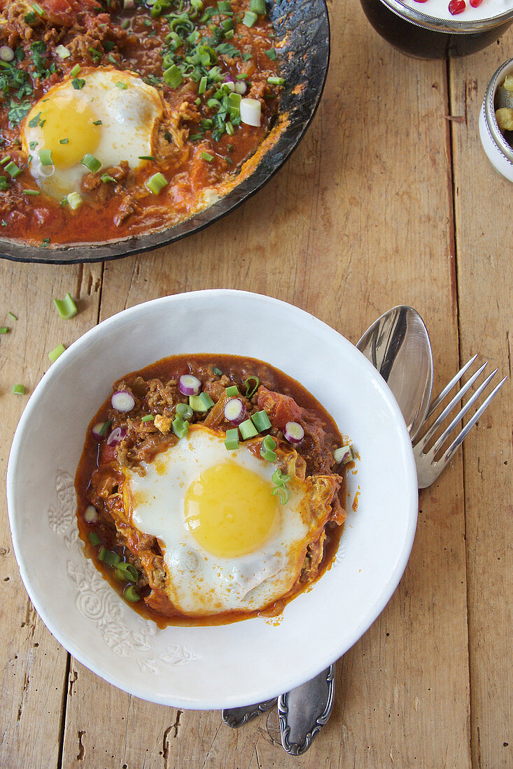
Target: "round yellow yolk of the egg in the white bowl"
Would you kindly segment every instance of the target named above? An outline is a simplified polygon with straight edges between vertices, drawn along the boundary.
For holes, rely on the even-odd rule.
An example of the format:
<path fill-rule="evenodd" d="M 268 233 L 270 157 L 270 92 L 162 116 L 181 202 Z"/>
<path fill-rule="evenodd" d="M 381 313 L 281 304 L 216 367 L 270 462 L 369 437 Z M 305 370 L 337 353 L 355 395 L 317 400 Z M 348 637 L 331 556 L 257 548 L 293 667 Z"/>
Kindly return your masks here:
<path fill-rule="evenodd" d="M 232 461 L 199 474 L 186 492 L 184 511 L 198 544 L 220 558 L 257 550 L 278 518 L 270 484 Z"/>

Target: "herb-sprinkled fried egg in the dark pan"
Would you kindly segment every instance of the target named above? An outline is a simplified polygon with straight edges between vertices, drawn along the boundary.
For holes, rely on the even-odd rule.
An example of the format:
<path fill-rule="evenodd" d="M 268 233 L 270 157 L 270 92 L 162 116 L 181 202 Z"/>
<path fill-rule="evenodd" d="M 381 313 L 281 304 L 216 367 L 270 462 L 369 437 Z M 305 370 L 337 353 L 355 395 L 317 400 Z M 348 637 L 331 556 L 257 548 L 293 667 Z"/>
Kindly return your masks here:
<path fill-rule="evenodd" d="M 81 162 L 86 155 L 101 163 L 99 171 L 121 161 L 135 169 L 141 157 L 153 155 L 162 114 L 159 93 L 132 72 L 81 70 L 49 88 L 26 116 L 22 145 L 30 172 L 42 191 L 60 200 L 80 191 L 90 171 Z"/>

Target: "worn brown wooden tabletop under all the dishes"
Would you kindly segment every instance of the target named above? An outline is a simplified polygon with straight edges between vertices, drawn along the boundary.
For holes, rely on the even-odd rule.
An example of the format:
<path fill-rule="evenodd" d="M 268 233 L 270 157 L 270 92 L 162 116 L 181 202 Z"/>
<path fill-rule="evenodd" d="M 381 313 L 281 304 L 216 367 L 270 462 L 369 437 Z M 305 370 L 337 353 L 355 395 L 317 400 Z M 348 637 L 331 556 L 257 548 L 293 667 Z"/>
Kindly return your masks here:
<path fill-rule="evenodd" d="M 511 55 L 405 58 L 358 0 L 329 0 L 332 56 L 316 118 L 270 184 L 206 231 L 103 265 L 0 262 L 2 475 L 26 398 L 99 320 L 157 296 L 246 288 L 317 315 L 356 342 L 387 308 L 428 326 L 435 390 L 478 351 L 509 375 L 441 478 L 420 494 L 404 578 L 337 664 L 334 713 L 287 756 L 276 711 L 232 731 L 218 711 L 177 711 L 118 691 L 55 641 L 28 600 L 0 518 L 0 766 L 513 766 L 511 233 L 513 187 L 478 138 L 486 84 Z M 70 291 L 79 315 L 59 319 Z M 59 589 L 59 585 L 55 585 Z"/>

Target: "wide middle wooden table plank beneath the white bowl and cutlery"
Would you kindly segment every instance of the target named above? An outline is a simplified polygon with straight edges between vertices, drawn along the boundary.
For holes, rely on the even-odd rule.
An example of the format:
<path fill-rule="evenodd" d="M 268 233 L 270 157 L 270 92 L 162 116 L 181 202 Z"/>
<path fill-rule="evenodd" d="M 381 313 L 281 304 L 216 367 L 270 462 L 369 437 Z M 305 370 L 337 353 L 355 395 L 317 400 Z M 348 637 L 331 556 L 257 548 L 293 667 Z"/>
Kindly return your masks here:
<path fill-rule="evenodd" d="M 442 384 L 458 368 L 445 64 L 394 52 L 357 0 L 331 3 L 330 13 L 327 88 L 292 160 L 206 231 L 106 265 L 101 317 L 178 291 L 246 288 L 291 301 L 357 341 L 382 311 L 407 303 L 428 324 Z M 338 664 L 334 715 L 304 757 L 283 754 L 275 713 L 233 732 L 216 712 L 133 701 L 72 661 L 63 765 L 94 756 L 109 769 L 468 767 L 463 501 L 458 456 L 421 494 L 401 586 Z"/>

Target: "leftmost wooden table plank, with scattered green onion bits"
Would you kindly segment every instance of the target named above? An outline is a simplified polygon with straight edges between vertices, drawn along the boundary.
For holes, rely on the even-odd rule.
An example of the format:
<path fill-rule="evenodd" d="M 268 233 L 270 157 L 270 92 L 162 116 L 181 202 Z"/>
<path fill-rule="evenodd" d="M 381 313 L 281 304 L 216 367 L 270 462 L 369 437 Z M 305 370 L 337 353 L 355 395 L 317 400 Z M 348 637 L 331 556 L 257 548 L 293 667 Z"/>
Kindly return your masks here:
<path fill-rule="evenodd" d="M 95 325 L 101 267 L 53 268 L 0 261 L 0 445 L 2 488 L 8 448 L 27 396 L 13 395 L 12 384 L 30 394 L 49 368 L 47 353 L 71 344 Z M 62 321 L 52 298 L 70 291 L 79 315 Z M 12 311 L 15 321 L 6 313 Z M 0 511 L 0 765 L 57 767 L 68 654 L 36 614 L 18 574 L 9 534 L 7 506 Z M 48 568 L 52 568 L 51 564 Z"/>

